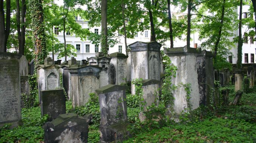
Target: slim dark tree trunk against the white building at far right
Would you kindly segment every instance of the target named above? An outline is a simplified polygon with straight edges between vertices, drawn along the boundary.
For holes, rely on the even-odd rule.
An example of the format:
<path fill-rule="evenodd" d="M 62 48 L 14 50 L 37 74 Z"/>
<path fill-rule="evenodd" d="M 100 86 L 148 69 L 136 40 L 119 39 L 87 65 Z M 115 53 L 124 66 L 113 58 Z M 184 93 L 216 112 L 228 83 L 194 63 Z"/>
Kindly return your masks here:
<path fill-rule="evenodd" d="M 242 69 L 242 6 L 243 0 L 240 0 L 240 11 L 239 11 L 239 39 L 238 39 L 238 46 L 237 46 L 237 68 Z"/>

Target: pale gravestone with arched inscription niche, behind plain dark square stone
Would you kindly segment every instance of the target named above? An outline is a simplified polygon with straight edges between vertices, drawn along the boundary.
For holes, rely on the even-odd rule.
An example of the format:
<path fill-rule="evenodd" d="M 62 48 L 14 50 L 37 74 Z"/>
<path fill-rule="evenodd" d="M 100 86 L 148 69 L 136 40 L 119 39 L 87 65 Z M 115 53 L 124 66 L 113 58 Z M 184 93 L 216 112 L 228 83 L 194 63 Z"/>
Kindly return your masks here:
<path fill-rule="evenodd" d="M 51 90 L 60 87 L 59 66 L 53 65 L 51 57 L 45 58 L 45 64 L 37 66 L 39 101 L 42 90 Z"/>

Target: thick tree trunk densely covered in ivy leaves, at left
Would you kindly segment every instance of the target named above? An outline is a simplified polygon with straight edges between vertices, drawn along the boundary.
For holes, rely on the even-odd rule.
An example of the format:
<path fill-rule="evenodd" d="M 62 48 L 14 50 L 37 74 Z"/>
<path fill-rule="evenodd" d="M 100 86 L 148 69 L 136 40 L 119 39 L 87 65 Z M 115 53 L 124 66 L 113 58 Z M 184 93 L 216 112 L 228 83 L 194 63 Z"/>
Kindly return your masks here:
<path fill-rule="evenodd" d="M 30 0 L 29 8 L 31 12 L 32 30 L 34 34 L 35 59 L 38 64 L 43 64 L 48 56 L 45 40 L 45 27 L 43 24 L 42 0 Z"/>

